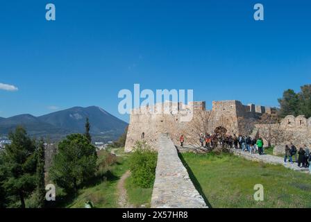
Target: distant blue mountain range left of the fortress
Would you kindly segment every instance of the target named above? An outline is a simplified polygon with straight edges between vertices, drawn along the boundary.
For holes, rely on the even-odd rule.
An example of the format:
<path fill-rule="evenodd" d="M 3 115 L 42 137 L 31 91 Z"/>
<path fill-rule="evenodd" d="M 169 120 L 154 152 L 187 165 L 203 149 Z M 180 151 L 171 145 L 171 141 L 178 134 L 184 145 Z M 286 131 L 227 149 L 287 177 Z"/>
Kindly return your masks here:
<path fill-rule="evenodd" d="M 90 133 L 93 141 L 115 140 L 124 133 L 124 129 L 128 126 L 128 123 L 102 108 L 96 106 L 74 107 L 41 117 L 34 117 L 31 114 L 21 114 L 9 118 L 0 117 L 0 136 L 8 135 L 17 126 L 24 126 L 28 135 L 32 137 L 44 137 L 51 141 L 57 141 L 71 133 L 84 133 L 87 117 L 90 120 Z"/>

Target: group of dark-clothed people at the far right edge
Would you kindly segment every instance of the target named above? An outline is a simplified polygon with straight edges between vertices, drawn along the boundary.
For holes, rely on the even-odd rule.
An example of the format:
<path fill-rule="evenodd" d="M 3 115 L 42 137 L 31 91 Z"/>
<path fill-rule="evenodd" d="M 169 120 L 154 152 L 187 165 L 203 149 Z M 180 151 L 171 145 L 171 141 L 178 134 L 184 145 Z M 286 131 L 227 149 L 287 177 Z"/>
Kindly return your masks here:
<path fill-rule="evenodd" d="M 298 153 L 298 160 L 297 160 L 297 153 Z M 295 157 L 295 162 L 298 163 L 298 167 L 305 167 L 310 169 L 310 162 L 311 162 L 311 155 L 310 155 L 310 149 L 304 144 L 301 148 L 299 148 L 299 151 L 297 150 L 296 146 L 294 144 L 290 144 L 290 147 L 288 145 L 285 146 L 285 157 L 284 157 L 284 164 L 286 164 L 287 159 L 289 158 L 289 161 L 293 164 L 293 157 Z"/>

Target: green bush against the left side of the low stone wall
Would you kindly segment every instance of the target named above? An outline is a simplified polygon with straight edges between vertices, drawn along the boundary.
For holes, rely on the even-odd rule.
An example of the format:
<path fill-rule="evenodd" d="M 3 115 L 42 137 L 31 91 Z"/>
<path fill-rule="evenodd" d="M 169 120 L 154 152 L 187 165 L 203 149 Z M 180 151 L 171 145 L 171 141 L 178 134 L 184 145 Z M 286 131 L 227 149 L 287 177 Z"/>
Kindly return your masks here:
<path fill-rule="evenodd" d="M 130 170 L 134 184 L 142 188 L 150 188 L 155 180 L 157 153 L 145 142 L 136 142 L 130 157 Z"/>

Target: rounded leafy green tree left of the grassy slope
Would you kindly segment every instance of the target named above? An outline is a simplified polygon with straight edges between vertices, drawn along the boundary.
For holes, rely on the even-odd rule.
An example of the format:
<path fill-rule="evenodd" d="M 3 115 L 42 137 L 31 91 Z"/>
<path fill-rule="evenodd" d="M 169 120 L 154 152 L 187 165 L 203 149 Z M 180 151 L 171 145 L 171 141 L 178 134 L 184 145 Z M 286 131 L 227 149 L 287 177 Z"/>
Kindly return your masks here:
<path fill-rule="evenodd" d="M 81 134 L 67 136 L 58 144 L 49 175 L 67 194 L 76 193 L 81 185 L 94 176 L 96 148 Z"/>

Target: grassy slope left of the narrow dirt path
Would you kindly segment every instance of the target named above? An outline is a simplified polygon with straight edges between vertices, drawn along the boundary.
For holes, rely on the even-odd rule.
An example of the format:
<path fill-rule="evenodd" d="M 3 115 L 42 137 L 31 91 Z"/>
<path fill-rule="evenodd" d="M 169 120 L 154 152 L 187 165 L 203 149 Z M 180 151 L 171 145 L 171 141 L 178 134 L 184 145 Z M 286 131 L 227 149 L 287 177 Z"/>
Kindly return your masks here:
<path fill-rule="evenodd" d="M 99 151 L 98 162 L 106 160 L 108 153 Z M 115 208 L 117 204 L 117 182 L 119 178 L 128 170 L 128 157 L 117 157 L 117 162 L 103 169 L 103 175 L 95 182 L 84 189 L 80 189 L 76 196 L 66 196 L 58 189 L 56 198 L 58 207 L 81 208 L 87 201 L 92 201 L 96 208 Z"/>

